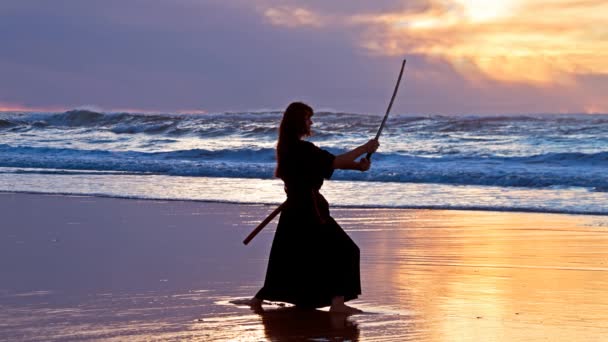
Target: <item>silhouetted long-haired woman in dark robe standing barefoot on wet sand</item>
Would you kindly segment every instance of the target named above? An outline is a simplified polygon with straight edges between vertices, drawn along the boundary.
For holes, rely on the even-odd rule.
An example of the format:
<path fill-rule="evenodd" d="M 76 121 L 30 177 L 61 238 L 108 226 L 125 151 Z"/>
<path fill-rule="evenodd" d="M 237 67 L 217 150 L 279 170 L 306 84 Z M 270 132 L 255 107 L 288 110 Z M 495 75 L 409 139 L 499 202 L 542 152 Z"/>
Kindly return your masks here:
<path fill-rule="evenodd" d="M 312 108 L 300 102 L 290 104 L 283 114 L 275 173 L 285 183 L 287 205 L 270 250 L 264 287 L 251 305 L 259 308 L 266 299 L 357 313 L 360 310 L 344 302 L 361 294 L 359 248 L 330 216 L 319 189 L 334 169 L 367 171 L 369 160 L 356 158 L 375 152 L 379 144 L 370 140 L 334 156 L 302 140 L 311 134 L 312 115 Z"/>

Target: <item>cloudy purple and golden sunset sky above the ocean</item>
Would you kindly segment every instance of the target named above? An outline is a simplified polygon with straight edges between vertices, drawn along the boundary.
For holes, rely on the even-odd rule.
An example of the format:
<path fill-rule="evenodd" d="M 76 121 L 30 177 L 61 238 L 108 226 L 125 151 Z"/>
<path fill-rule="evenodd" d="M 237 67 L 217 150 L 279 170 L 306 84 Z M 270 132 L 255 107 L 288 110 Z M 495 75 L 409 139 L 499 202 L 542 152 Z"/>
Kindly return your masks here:
<path fill-rule="evenodd" d="M 0 110 L 608 113 L 605 0 L 2 0 Z"/>

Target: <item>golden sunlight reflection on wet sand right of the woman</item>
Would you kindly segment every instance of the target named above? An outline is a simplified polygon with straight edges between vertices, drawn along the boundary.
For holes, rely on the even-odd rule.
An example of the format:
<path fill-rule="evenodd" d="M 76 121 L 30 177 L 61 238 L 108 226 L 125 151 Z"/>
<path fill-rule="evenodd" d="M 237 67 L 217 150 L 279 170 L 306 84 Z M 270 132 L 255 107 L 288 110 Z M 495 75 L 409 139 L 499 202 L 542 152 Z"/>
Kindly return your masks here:
<path fill-rule="evenodd" d="M 424 339 L 608 336 L 608 235 L 585 225 L 589 217 L 383 214 L 400 223 L 364 238 L 364 262 L 375 263 L 363 270 L 364 298 L 413 310 Z"/>

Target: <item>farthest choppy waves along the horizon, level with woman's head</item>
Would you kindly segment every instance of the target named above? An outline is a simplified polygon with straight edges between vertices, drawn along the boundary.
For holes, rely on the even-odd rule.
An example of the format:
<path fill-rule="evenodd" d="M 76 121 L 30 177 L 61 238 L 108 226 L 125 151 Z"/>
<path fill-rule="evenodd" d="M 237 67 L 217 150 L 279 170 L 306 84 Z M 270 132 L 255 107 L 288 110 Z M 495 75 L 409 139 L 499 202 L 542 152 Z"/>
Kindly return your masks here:
<path fill-rule="evenodd" d="M 315 131 L 325 134 L 375 133 L 379 116 L 350 113 L 316 114 L 323 120 Z M 6 115 L 5 115 L 6 116 Z M 93 128 L 117 134 L 167 134 L 223 136 L 249 134 L 252 136 L 276 134 L 280 112 L 217 113 L 217 114 L 135 114 L 100 113 L 90 110 L 71 110 L 65 113 L 25 113 L 0 119 L 0 129 Z M 410 133 L 458 132 L 525 132 L 555 126 L 559 134 L 584 132 L 608 133 L 608 115 L 513 115 L 513 116 L 441 116 L 397 115 L 389 118 L 388 129 Z"/>

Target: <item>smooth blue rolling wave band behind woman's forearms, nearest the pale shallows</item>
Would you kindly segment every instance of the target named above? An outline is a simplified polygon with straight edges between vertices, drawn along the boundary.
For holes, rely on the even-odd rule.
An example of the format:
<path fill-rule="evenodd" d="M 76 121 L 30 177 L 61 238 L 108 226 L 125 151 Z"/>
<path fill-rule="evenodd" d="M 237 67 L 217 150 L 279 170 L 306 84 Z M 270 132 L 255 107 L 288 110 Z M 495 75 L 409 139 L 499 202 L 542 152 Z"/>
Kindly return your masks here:
<path fill-rule="evenodd" d="M 0 145 L 0 166 L 268 179 L 273 177 L 274 153 L 272 148 L 119 152 L 3 144 Z M 608 152 L 548 153 L 529 157 L 445 155 L 441 158 L 378 153 L 370 172 L 339 171 L 334 179 L 530 188 L 585 187 L 606 191 L 606 167 Z"/>

